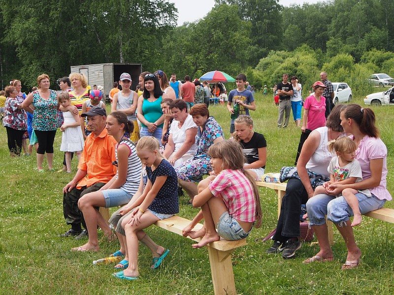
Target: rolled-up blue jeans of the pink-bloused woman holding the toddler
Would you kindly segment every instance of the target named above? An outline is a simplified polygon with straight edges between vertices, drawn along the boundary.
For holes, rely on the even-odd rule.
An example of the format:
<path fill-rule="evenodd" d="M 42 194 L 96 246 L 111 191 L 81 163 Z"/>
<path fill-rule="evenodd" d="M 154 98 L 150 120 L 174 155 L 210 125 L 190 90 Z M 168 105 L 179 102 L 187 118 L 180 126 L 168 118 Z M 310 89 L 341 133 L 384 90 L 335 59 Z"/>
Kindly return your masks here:
<path fill-rule="evenodd" d="M 380 209 L 386 203 L 386 200 L 379 200 L 373 194 L 372 197 L 367 197 L 362 193 L 357 193 L 356 197 L 359 200 L 361 214 Z M 325 215 L 328 220 L 339 226 L 353 216 L 353 210 L 344 197 L 335 198 L 326 194 L 319 194 L 309 199 L 306 203 L 306 211 L 311 226 L 325 224 Z"/>

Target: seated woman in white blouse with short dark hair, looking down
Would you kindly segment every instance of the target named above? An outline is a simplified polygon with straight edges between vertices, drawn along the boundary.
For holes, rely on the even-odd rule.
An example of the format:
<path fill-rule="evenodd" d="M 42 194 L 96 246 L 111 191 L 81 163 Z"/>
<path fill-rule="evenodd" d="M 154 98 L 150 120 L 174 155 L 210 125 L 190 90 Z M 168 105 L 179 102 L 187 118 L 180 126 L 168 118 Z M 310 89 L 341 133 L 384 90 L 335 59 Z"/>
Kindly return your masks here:
<path fill-rule="evenodd" d="M 182 99 L 171 102 L 170 110 L 174 120 L 163 155 L 176 168 L 196 154 L 197 125 L 188 114 L 186 102 Z"/>

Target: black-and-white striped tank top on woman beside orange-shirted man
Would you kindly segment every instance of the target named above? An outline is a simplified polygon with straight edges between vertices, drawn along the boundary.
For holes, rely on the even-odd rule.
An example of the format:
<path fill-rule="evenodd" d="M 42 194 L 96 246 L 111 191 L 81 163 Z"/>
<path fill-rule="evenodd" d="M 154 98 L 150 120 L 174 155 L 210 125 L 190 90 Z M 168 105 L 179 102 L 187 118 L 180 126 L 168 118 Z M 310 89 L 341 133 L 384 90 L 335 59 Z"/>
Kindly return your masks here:
<path fill-rule="evenodd" d="M 118 147 L 120 145 L 126 145 L 130 149 L 128 165 L 127 165 L 126 182 L 120 187 L 120 189 L 123 189 L 124 191 L 133 195 L 138 190 L 141 171 L 142 171 L 142 163 L 139 157 L 137 156 L 135 145 L 131 142 L 130 139 L 122 139 L 120 143 L 116 145 L 115 147 L 116 161 L 118 161 Z M 116 172 L 116 178 L 118 178 L 118 172 Z"/>

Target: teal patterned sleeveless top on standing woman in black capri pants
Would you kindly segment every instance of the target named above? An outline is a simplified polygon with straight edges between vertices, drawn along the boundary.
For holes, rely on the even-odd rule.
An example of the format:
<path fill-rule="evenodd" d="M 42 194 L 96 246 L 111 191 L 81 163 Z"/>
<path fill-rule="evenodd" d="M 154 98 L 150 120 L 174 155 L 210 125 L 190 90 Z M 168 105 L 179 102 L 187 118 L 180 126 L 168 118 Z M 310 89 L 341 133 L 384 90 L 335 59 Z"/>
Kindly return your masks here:
<path fill-rule="evenodd" d="M 49 89 L 48 99 L 43 99 L 37 91 L 33 91 L 33 129 L 39 131 L 52 131 L 58 128 L 56 92 Z"/>

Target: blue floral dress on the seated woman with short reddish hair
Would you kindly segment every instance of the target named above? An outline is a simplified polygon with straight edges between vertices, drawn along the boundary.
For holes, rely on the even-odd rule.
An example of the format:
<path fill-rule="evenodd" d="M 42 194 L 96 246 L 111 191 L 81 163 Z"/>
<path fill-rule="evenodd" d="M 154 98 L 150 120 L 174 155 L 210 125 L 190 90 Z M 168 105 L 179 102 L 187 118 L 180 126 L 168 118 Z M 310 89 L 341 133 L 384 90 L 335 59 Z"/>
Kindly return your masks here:
<path fill-rule="evenodd" d="M 198 128 L 196 135 L 197 154 L 184 162 L 182 166 L 175 168 L 178 177 L 186 181 L 198 182 L 201 181 L 204 174 L 211 172 L 212 167 L 209 163 L 211 157 L 208 155 L 208 148 L 219 137 L 224 138 L 222 127 L 213 117 L 208 118 L 202 131 Z"/>

